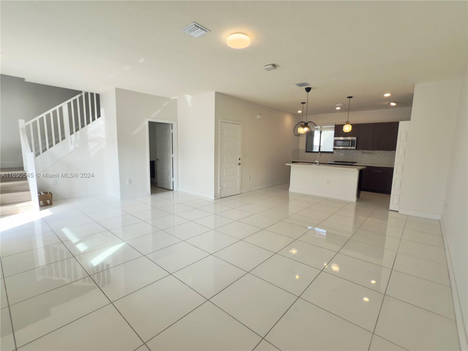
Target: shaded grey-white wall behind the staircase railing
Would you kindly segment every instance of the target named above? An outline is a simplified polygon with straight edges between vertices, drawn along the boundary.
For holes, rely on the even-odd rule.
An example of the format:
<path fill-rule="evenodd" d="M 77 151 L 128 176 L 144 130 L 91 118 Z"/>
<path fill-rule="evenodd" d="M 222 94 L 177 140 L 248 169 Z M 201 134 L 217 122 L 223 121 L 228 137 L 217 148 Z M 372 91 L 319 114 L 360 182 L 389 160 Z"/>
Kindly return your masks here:
<path fill-rule="evenodd" d="M 0 75 L 0 167 L 22 167 L 18 120 L 26 122 L 80 94 L 78 90 Z"/>

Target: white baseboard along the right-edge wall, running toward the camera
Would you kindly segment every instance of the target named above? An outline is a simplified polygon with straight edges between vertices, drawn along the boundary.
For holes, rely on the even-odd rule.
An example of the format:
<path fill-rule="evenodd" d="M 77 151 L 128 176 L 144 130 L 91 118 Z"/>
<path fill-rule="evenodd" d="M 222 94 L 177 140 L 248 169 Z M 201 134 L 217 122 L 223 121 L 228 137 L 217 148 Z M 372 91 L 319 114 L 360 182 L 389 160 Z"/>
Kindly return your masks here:
<path fill-rule="evenodd" d="M 466 326 L 463 323 L 463 314 L 461 313 L 460 296 L 458 294 L 457 282 L 455 279 L 455 275 L 453 273 L 452 257 L 450 256 L 450 250 L 448 249 L 447 234 L 445 232 L 443 218 L 440 219 L 440 228 L 442 229 L 442 237 L 444 239 L 444 247 L 445 247 L 445 256 L 447 259 L 448 276 L 450 278 L 450 285 L 452 287 L 453 309 L 455 311 L 455 322 L 457 324 L 458 339 L 460 342 L 460 350 L 468 350 L 468 335 L 467 335 Z"/>

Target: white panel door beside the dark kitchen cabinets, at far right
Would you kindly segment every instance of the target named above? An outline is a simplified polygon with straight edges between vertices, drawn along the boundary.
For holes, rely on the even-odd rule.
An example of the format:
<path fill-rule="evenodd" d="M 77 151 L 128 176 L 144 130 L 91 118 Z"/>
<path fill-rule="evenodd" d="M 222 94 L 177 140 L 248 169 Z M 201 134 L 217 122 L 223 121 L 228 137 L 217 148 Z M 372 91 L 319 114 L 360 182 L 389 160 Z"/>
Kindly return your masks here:
<path fill-rule="evenodd" d="M 402 121 L 398 126 L 396 141 L 395 167 L 393 168 L 392 192 L 390 195 L 390 210 L 400 209 L 402 186 L 405 172 L 406 150 L 408 147 L 409 121 Z"/>

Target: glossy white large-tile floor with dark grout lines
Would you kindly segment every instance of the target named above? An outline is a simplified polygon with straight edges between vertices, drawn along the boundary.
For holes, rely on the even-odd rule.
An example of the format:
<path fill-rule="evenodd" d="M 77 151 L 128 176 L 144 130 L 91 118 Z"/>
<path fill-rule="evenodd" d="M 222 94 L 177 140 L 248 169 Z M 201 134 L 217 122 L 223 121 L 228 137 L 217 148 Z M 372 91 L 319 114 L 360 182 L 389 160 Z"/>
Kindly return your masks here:
<path fill-rule="evenodd" d="M 280 185 L 54 202 L 2 231 L 1 350 L 457 350 L 438 221 Z"/>

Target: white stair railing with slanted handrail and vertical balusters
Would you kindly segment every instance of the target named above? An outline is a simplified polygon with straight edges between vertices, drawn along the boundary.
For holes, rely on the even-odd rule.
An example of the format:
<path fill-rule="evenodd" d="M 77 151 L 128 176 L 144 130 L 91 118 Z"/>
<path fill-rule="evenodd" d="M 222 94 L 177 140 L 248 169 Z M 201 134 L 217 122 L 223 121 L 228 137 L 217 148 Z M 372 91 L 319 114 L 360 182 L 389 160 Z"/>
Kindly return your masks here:
<path fill-rule="evenodd" d="M 71 135 L 99 118 L 96 95 L 83 91 L 26 122 L 26 140 L 30 140 L 34 157 L 63 140 L 71 143 Z"/>

